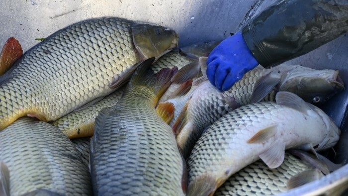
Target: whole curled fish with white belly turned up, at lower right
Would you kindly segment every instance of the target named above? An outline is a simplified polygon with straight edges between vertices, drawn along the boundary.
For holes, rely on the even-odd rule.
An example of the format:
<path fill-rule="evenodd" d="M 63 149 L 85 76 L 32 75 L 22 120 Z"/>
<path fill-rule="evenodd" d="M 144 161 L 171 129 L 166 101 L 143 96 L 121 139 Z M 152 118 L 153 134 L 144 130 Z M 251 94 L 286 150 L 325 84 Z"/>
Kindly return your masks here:
<path fill-rule="evenodd" d="M 322 110 L 289 92 L 279 92 L 276 102 L 244 105 L 206 129 L 188 159 L 189 196 L 214 193 L 259 158 L 276 168 L 285 149 L 311 144 L 323 150 L 337 143 L 340 130 Z"/>

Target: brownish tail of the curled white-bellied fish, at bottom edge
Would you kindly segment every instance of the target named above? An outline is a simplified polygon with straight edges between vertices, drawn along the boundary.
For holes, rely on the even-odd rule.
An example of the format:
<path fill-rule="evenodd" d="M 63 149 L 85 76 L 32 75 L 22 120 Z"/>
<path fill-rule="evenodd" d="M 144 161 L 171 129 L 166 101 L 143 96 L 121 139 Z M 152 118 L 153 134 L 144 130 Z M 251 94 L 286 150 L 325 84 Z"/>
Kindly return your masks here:
<path fill-rule="evenodd" d="M 205 174 L 199 176 L 188 185 L 187 196 L 212 196 L 216 189 L 215 178 Z"/>

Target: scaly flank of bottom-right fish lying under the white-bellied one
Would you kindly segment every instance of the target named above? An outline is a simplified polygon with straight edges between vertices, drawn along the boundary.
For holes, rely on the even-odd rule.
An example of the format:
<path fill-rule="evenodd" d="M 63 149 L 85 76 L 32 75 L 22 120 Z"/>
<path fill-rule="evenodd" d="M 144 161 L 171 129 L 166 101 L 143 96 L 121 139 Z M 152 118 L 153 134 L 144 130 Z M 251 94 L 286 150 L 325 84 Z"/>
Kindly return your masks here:
<path fill-rule="evenodd" d="M 261 160 L 232 175 L 214 196 L 276 195 L 287 190 L 287 181 L 296 174 L 313 169 L 294 156 L 285 153 L 284 162 L 269 169 Z"/>

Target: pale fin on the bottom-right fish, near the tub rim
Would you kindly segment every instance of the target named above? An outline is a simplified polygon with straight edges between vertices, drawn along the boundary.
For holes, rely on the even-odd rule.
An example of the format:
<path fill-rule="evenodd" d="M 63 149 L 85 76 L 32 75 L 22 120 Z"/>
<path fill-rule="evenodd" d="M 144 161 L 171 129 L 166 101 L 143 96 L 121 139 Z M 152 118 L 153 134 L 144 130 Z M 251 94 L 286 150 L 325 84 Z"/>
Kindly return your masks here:
<path fill-rule="evenodd" d="M 316 181 L 323 176 L 324 175 L 318 169 L 304 171 L 291 177 L 287 182 L 286 187 L 288 189 L 300 187 L 307 183 Z"/>

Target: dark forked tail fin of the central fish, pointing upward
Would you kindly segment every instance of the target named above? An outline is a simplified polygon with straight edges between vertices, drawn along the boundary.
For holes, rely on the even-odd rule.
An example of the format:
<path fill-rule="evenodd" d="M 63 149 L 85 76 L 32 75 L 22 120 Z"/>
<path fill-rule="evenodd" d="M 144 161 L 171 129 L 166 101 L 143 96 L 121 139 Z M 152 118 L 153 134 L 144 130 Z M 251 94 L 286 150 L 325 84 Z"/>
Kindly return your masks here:
<path fill-rule="evenodd" d="M 177 67 L 173 69 L 164 68 L 155 74 L 149 69 L 154 60 L 155 58 L 153 57 L 145 60 L 139 65 L 129 82 L 129 88 L 134 86 L 146 86 L 152 89 L 158 98 L 161 98 L 172 84 L 171 79 L 177 72 Z"/>

